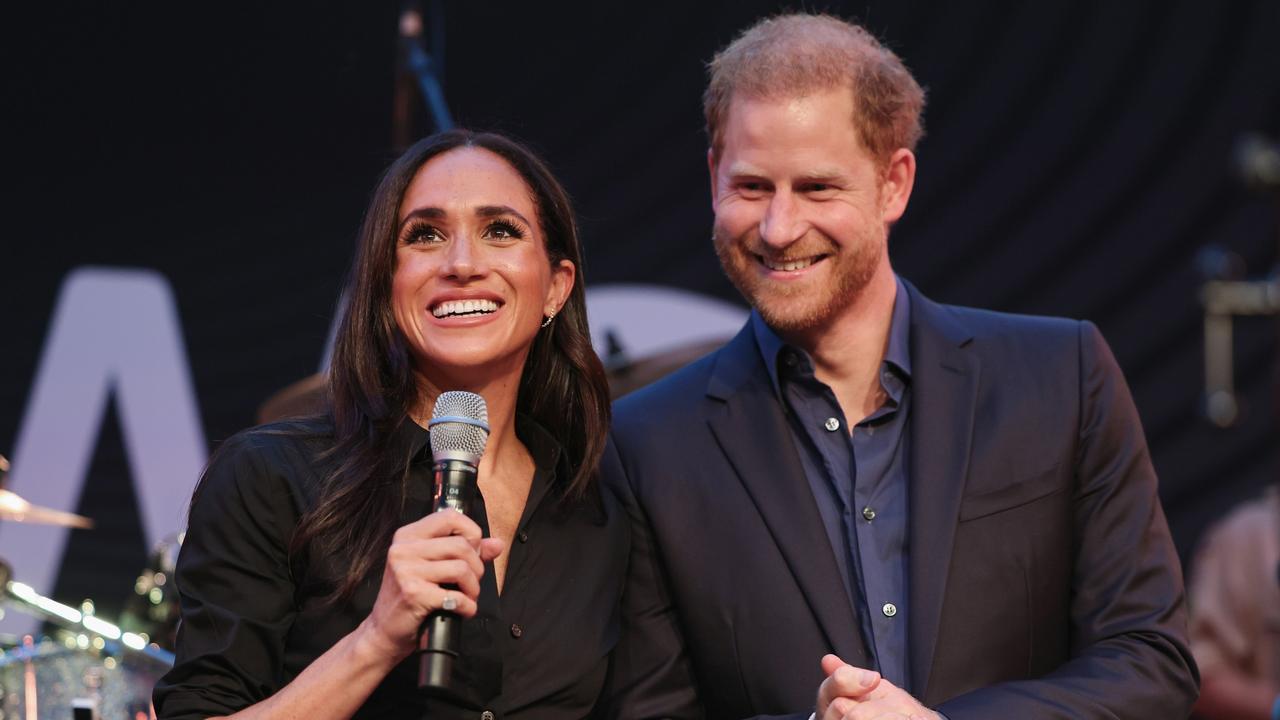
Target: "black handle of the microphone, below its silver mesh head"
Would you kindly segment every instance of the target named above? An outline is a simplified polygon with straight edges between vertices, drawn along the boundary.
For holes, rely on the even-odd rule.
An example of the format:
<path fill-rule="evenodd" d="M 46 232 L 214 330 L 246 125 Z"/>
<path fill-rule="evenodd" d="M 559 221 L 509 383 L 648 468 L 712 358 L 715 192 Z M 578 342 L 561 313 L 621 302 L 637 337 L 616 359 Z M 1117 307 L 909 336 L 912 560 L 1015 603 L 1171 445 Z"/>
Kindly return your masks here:
<path fill-rule="evenodd" d="M 476 474 L 475 462 L 457 457 L 438 460 L 434 510 L 452 509 L 466 514 L 475 495 Z M 457 589 L 452 585 L 445 588 Z M 448 610 L 436 610 L 426 616 L 419 633 L 419 689 L 428 697 L 458 700 L 453 691 L 453 659 L 460 652 L 462 618 Z"/>

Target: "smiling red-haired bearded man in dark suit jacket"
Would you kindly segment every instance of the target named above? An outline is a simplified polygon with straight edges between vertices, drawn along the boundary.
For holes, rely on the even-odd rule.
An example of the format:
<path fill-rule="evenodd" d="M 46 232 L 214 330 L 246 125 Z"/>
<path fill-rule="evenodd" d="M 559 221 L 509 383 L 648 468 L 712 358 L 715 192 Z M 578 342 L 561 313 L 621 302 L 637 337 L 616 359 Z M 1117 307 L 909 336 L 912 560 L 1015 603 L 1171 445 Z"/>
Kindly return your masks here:
<path fill-rule="evenodd" d="M 923 106 L 831 17 L 712 63 L 713 238 L 753 313 L 614 409 L 611 716 L 1189 712 L 1178 559 L 1097 329 L 940 305 L 890 265 Z"/>

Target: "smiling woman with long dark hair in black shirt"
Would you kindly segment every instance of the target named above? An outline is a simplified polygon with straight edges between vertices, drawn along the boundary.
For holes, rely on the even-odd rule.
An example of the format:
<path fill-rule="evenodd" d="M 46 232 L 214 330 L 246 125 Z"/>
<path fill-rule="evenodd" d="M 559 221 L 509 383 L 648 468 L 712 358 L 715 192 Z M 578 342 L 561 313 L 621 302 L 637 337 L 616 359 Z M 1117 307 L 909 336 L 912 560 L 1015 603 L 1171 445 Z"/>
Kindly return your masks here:
<path fill-rule="evenodd" d="M 197 487 L 160 717 L 591 712 L 628 534 L 594 483 L 608 387 L 580 266 L 564 191 L 513 141 L 452 131 L 390 167 L 330 410 L 233 437 Z M 429 514 L 425 425 L 454 389 L 492 428 L 466 516 Z M 413 656 L 439 609 L 465 618 L 447 700 L 419 692 Z"/>

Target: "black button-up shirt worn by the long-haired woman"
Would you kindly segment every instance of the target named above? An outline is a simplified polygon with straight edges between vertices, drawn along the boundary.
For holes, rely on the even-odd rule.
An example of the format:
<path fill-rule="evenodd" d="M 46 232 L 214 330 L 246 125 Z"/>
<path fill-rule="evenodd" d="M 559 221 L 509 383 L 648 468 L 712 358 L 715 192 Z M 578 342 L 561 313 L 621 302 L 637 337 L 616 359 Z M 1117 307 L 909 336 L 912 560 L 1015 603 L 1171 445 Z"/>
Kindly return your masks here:
<path fill-rule="evenodd" d="M 628 529 L 616 500 L 593 488 L 567 502 L 559 445 L 517 420 L 536 470 L 498 596 L 492 565 L 479 612 L 462 623 L 456 703 L 417 691 L 417 655 L 401 662 L 357 717 L 577 719 L 590 715 L 617 637 Z M 406 421 L 390 452 L 407 459 L 401 524 L 431 506 L 428 430 Z M 381 582 L 370 574 L 351 602 L 326 606 L 317 579 L 340 577 L 342 557 L 288 553 L 301 515 L 316 502 L 332 429 L 321 423 L 247 430 L 215 454 L 192 505 L 178 560 L 178 661 L 156 685 L 160 717 L 206 717 L 259 702 L 369 615 Z M 389 479 L 394 484 L 396 479 Z M 470 515 L 488 536 L 480 493 Z M 312 555 L 312 553 L 308 553 Z"/>

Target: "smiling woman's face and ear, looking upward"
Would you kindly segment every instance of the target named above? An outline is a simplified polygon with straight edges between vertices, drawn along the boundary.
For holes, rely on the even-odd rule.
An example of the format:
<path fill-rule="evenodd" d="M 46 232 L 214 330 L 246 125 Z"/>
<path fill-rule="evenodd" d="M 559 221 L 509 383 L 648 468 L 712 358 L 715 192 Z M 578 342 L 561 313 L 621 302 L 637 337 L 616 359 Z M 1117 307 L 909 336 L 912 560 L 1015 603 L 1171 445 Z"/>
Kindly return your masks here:
<path fill-rule="evenodd" d="M 449 150 L 413 176 L 398 220 L 392 310 L 419 372 L 436 389 L 518 374 L 575 277 L 550 265 L 524 178 L 488 150 Z"/>

